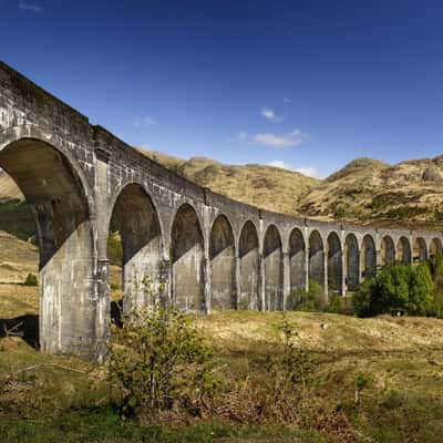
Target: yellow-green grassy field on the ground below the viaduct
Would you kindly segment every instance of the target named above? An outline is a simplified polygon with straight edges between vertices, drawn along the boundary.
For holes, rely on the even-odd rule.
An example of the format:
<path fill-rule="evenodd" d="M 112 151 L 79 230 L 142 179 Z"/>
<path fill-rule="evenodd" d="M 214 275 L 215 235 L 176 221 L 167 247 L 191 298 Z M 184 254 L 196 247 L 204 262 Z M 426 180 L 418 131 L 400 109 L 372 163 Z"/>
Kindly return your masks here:
<path fill-rule="evenodd" d="M 110 406 L 103 368 L 35 349 L 37 251 L 4 235 L 0 251 L 1 442 L 441 442 L 443 435 L 443 321 L 357 319 L 288 312 L 293 344 L 317 361 L 299 420 L 292 426 L 241 423 L 220 414 L 186 423 L 121 422 Z M 10 247 L 8 248 L 8 245 Z M 112 267 L 114 298 L 120 269 Z M 225 384 L 271 378 L 269 359 L 282 352 L 279 312 L 214 312 L 197 327 L 215 352 Z M 247 384 L 249 383 L 249 384 Z M 240 389 L 239 388 L 239 389 Z M 243 394 L 249 408 L 254 393 Z M 241 411 L 240 411 L 241 412 Z"/>

